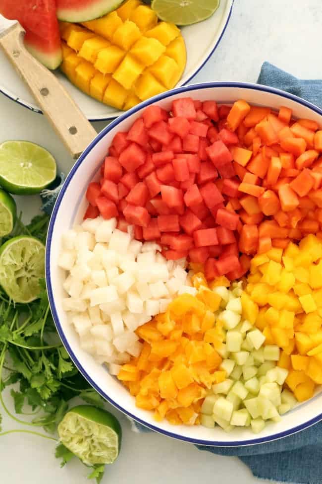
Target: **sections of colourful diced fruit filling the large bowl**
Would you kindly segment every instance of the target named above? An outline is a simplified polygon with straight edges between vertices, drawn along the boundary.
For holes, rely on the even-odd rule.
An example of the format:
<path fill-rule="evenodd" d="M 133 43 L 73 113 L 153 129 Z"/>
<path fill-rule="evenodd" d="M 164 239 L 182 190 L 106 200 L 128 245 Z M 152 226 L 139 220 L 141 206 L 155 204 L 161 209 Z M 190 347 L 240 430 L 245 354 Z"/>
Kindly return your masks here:
<path fill-rule="evenodd" d="M 66 232 L 82 348 L 156 420 L 229 431 L 322 385 L 322 129 L 237 100 L 145 108 Z"/>

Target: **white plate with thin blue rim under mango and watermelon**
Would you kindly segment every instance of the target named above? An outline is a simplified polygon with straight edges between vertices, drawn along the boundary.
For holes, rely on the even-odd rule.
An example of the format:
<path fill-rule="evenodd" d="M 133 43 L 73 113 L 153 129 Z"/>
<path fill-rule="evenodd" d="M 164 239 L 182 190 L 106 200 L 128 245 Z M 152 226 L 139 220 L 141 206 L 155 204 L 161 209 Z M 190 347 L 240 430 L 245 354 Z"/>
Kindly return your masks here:
<path fill-rule="evenodd" d="M 187 65 L 177 87 L 187 84 L 214 54 L 227 27 L 233 2 L 234 0 L 220 0 L 219 7 L 210 18 L 200 23 L 182 27 L 182 35 L 187 48 Z M 14 102 L 41 114 L 42 112 L 35 104 L 28 87 L 18 77 L 1 50 L 0 66 L 0 92 Z M 100 103 L 78 90 L 59 70 L 56 70 L 54 74 L 89 121 L 108 121 L 122 114 L 115 108 Z"/>

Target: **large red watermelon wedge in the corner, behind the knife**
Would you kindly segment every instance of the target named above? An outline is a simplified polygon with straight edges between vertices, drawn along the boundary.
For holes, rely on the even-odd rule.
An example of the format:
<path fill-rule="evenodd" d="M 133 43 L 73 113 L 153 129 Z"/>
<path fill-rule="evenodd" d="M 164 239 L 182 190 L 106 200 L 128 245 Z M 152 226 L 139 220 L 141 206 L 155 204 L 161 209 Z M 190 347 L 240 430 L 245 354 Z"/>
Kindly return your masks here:
<path fill-rule="evenodd" d="M 25 29 L 25 46 L 48 69 L 62 61 L 55 0 L 0 0 L 0 13 Z"/>

